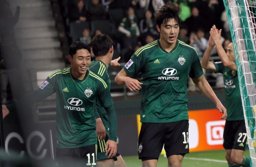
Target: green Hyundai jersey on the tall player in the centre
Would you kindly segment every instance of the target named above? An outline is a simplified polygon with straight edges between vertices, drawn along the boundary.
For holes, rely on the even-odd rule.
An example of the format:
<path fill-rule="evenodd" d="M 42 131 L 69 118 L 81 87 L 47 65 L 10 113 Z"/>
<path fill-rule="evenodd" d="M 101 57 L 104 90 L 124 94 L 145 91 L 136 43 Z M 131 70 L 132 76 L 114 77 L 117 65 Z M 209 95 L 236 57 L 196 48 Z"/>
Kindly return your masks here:
<path fill-rule="evenodd" d="M 133 78 L 142 73 L 141 122 L 188 120 L 187 79 L 203 75 L 196 50 L 177 40 L 168 53 L 159 39 L 141 47 L 124 66 Z"/>

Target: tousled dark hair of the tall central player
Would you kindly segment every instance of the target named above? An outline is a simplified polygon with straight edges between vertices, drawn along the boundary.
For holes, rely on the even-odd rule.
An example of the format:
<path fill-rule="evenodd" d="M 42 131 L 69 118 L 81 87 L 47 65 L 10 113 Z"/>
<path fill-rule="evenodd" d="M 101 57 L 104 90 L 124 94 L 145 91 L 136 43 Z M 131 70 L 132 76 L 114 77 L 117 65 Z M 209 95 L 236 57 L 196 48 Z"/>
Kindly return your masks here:
<path fill-rule="evenodd" d="M 181 14 L 180 6 L 173 2 L 167 2 L 156 13 L 156 24 L 160 28 L 162 24 L 166 25 L 167 22 L 174 19 L 174 21 L 180 26 L 181 20 L 179 14 Z"/>

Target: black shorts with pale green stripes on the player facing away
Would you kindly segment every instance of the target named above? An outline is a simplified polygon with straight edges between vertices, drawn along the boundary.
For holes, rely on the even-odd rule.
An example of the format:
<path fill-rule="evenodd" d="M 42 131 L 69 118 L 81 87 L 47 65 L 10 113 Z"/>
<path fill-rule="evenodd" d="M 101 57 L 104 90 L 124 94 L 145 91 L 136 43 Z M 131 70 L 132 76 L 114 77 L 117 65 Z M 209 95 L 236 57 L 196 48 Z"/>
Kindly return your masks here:
<path fill-rule="evenodd" d="M 114 155 L 112 158 L 108 158 L 108 155 L 105 155 L 107 150 L 104 148 L 106 147 L 106 142 L 108 141 L 108 135 L 106 134 L 106 138 L 101 141 L 98 139 L 98 149 L 97 149 L 97 161 L 100 159 L 114 159 L 114 161 L 117 161 L 117 157 L 120 155 L 119 151 L 116 151 L 116 155 Z"/>

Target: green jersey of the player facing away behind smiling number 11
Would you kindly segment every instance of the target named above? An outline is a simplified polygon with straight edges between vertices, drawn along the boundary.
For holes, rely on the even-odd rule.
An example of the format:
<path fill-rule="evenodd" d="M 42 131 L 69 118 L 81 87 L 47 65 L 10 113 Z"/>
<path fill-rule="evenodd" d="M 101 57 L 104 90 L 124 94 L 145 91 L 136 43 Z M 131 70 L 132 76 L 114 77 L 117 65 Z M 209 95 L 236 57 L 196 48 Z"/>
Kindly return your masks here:
<path fill-rule="evenodd" d="M 98 77 L 100 77 L 101 79 L 103 79 L 105 81 L 105 83 L 108 85 L 108 90 L 110 91 L 110 77 L 108 75 L 108 69 L 107 69 L 105 63 L 103 63 L 100 60 L 94 60 L 91 62 L 89 69 L 90 69 L 90 71 L 92 71 L 93 73 L 98 75 Z M 98 113 L 100 115 L 102 123 L 103 123 L 104 127 L 106 128 L 106 134 L 109 134 L 109 124 L 108 124 L 107 113 L 106 113 L 105 109 L 102 106 L 100 106 L 100 101 L 98 99 L 96 102 L 96 108 L 98 110 Z"/>

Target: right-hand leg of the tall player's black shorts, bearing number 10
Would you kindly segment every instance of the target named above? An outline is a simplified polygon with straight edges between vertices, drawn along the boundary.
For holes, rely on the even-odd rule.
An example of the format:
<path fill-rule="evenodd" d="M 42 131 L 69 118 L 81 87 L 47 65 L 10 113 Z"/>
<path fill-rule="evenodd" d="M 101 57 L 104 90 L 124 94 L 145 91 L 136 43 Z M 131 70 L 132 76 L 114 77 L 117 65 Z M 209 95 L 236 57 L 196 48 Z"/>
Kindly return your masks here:
<path fill-rule="evenodd" d="M 166 123 L 164 149 L 166 156 L 189 153 L 188 120 Z"/>

